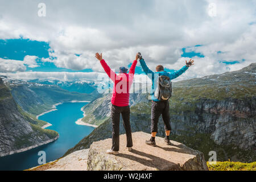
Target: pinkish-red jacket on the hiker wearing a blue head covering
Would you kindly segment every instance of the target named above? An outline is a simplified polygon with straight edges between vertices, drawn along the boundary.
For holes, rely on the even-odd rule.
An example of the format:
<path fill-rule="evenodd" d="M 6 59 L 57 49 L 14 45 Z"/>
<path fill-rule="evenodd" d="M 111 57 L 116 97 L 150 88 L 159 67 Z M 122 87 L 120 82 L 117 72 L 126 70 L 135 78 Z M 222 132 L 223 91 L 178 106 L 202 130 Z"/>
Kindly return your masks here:
<path fill-rule="evenodd" d="M 110 79 L 114 82 L 113 94 L 111 103 L 115 106 L 129 106 L 130 97 L 130 86 L 133 84 L 133 77 L 135 72 L 135 67 L 137 60 L 133 61 L 129 73 L 121 73 L 119 75 L 115 74 L 112 69 L 109 68 L 105 60 L 101 60 L 101 65 L 105 72 L 108 74 Z"/>

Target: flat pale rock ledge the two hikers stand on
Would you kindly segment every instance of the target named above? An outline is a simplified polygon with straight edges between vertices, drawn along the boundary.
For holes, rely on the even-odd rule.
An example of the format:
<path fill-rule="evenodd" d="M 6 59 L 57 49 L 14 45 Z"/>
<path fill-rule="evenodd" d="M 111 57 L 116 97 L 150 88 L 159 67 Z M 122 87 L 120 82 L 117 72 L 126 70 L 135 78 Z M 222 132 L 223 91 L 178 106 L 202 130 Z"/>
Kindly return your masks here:
<path fill-rule="evenodd" d="M 150 134 L 133 133 L 133 151 L 126 149 L 126 135 L 120 135 L 118 155 L 106 154 L 112 139 L 93 142 L 89 148 L 88 170 L 208 170 L 204 155 L 184 144 L 172 141 L 168 146 L 164 139 L 156 137 L 156 147 L 148 146 L 145 140 Z"/>

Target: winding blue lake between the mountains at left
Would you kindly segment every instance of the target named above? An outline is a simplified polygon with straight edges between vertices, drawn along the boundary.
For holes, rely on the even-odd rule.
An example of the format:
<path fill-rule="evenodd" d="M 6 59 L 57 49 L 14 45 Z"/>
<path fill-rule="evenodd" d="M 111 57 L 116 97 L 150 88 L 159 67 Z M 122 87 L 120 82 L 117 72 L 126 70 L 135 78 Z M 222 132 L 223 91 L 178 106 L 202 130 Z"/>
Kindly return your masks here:
<path fill-rule="evenodd" d="M 38 166 L 39 151 L 46 152 L 46 162 L 63 156 L 69 148 L 94 130 L 94 127 L 75 123 L 77 119 L 83 117 L 81 107 L 86 104 L 86 102 L 65 102 L 57 105 L 57 110 L 40 116 L 39 119 L 52 124 L 47 129 L 57 131 L 60 134 L 59 139 L 28 151 L 0 157 L 0 170 L 24 170 Z"/>

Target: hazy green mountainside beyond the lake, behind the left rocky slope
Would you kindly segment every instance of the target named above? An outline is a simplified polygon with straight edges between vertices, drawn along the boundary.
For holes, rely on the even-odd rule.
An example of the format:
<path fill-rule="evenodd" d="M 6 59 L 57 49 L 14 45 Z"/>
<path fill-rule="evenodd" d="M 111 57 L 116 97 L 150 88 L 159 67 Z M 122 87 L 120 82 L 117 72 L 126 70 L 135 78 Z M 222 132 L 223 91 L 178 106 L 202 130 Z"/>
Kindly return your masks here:
<path fill-rule="evenodd" d="M 10 88 L 17 104 L 28 113 L 38 115 L 52 109 L 52 105 L 59 102 L 91 101 L 99 94 L 69 92 L 57 85 L 39 84 L 24 80 L 16 80 L 0 76 Z"/>

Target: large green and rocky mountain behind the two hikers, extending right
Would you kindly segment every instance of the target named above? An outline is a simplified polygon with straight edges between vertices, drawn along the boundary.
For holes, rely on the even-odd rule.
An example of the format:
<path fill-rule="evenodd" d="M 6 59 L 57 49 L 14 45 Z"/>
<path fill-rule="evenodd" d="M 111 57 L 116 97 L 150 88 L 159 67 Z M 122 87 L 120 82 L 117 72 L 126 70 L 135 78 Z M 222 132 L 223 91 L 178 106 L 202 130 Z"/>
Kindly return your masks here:
<path fill-rule="evenodd" d="M 202 151 L 207 160 L 209 151 L 216 151 L 218 161 L 256 161 L 255 74 L 253 63 L 239 71 L 174 82 L 170 100 L 171 139 Z M 144 102 L 131 106 L 132 131 L 150 133 L 151 102 L 145 101 L 145 94 L 136 98 Z M 112 137 L 109 96 L 93 102 L 94 105 L 84 107 L 92 119 L 85 117 L 83 121 L 99 126 L 65 155 Z M 94 112 L 97 109 L 101 112 Z M 120 133 L 125 133 L 122 125 Z M 164 137 L 162 118 L 158 136 Z"/>

